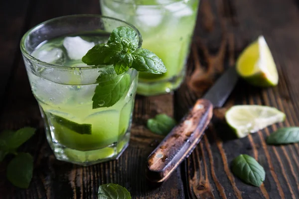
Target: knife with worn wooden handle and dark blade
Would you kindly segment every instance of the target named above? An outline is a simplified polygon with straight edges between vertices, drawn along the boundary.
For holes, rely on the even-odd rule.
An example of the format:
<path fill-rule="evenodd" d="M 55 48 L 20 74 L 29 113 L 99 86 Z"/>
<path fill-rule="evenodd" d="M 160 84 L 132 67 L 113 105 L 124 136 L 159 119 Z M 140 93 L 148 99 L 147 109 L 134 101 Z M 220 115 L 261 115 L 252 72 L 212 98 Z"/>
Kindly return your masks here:
<path fill-rule="evenodd" d="M 147 162 L 147 178 L 150 181 L 165 181 L 191 154 L 210 123 L 213 107 L 223 106 L 237 81 L 235 67 L 230 67 L 153 150 Z"/>

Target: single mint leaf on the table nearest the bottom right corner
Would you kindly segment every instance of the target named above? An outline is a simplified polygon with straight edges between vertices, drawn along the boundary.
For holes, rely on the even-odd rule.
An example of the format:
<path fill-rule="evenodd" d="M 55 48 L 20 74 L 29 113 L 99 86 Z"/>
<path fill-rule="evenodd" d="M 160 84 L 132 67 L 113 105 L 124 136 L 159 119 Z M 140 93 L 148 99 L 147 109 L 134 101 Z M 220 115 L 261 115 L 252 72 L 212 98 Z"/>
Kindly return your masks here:
<path fill-rule="evenodd" d="M 242 181 L 260 187 L 265 180 L 264 168 L 251 156 L 243 154 L 232 162 L 232 172 Z"/>

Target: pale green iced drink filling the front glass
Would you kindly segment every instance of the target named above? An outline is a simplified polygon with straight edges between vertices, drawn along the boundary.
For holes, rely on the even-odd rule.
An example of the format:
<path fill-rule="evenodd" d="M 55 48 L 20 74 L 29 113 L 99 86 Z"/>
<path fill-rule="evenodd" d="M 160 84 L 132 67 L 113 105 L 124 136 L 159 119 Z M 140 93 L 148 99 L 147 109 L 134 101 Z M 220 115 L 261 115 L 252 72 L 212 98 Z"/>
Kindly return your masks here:
<path fill-rule="evenodd" d="M 137 71 L 127 72 L 131 83 L 119 101 L 110 107 L 93 109 L 97 78 L 108 67 L 87 69 L 81 61 L 89 49 L 107 42 L 108 37 L 109 34 L 104 33 L 68 35 L 46 41 L 31 53 L 41 61 L 61 66 L 31 66 L 33 69 L 26 66 L 51 142 L 71 150 L 91 151 L 116 144 L 127 133 L 137 88 Z M 102 158 L 109 157 L 109 153 L 116 152 L 105 150 Z"/>

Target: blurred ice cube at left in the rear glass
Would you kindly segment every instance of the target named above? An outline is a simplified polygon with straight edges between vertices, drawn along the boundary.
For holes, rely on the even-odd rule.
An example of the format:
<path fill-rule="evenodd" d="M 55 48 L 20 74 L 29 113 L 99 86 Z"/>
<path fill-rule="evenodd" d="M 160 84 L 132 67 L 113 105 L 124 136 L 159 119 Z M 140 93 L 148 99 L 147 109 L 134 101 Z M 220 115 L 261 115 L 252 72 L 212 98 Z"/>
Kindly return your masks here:
<path fill-rule="evenodd" d="M 144 30 L 158 26 L 162 19 L 163 13 L 159 9 L 147 6 L 139 6 L 136 9 L 136 24 Z"/>

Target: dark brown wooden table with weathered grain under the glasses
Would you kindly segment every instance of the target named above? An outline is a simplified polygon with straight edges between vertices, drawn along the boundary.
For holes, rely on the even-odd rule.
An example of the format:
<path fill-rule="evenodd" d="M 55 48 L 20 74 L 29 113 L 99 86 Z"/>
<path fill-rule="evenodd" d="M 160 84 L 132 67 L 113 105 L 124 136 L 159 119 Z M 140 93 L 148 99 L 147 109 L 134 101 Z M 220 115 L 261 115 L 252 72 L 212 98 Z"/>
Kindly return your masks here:
<path fill-rule="evenodd" d="M 282 126 L 299 125 L 299 3 L 296 0 L 201 0 L 187 78 L 172 95 L 137 96 L 130 147 L 117 161 L 81 167 L 55 159 L 31 94 L 19 50 L 21 36 L 47 19 L 100 13 L 98 0 L 1 0 L 0 130 L 38 128 L 21 147 L 34 156 L 30 187 L 13 187 L 0 164 L 0 199 L 97 199 L 101 184 L 117 183 L 139 199 L 296 199 L 299 198 L 299 144 L 268 146 L 265 138 Z M 257 89 L 240 81 L 194 152 L 168 181 L 150 184 L 145 162 L 162 137 L 146 127 L 148 118 L 167 113 L 180 119 L 258 35 L 263 34 L 279 71 L 279 85 Z M 284 111 L 284 123 L 235 139 L 223 120 L 233 104 L 264 104 Z M 230 170 L 233 158 L 249 154 L 265 168 L 260 188 L 246 185 Z M 8 158 L 9 159 L 9 158 Z"/>

